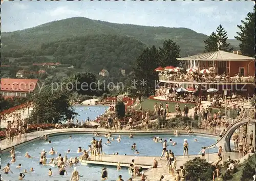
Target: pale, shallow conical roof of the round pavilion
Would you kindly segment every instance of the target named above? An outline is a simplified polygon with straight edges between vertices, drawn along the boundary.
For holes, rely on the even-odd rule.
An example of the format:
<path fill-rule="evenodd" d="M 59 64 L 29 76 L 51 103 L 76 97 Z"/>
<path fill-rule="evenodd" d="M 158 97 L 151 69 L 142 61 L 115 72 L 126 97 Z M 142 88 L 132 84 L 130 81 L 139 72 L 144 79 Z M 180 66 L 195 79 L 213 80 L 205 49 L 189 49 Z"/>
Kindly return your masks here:
<path fill-rule="evenodd" d="M 238 55 L 234 53 L 224 52 L 218 50 L 216 52 L 207 52 L 198 55 L 192 55 L 184 58 L 177 58 L 178 60 L 199 60 L 199 61 L 250 61 L 255 60 L 253 57 Z"/>

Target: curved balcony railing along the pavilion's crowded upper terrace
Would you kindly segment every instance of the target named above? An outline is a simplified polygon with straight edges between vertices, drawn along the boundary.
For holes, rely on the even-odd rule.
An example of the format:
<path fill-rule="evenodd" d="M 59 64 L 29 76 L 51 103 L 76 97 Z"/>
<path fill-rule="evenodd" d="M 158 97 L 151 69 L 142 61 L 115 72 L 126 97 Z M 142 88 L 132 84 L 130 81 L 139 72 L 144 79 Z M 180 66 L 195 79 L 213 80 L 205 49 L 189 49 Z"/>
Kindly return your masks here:
<path fill-rule="evenodd" d="M 175 82 L 215 82 L 215 83 L 254 83 L 255 79 L 252 76 L 249 77 L 202 77 L 195 80 L 194 78 L 185 78 L 180 76 L 159 75 L 160 81 L 175 81 Z"/>

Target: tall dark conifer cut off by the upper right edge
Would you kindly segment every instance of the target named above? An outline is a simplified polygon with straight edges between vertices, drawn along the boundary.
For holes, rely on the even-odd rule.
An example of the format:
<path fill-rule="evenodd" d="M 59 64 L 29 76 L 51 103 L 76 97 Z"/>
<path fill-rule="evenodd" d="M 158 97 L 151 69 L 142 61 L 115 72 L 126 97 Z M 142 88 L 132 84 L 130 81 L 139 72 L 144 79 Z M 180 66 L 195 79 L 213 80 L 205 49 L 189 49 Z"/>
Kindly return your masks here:
<path fill-rule="evenodd" d="M 254 12 L 249 12 L 245 20 L 241 20 L 241 22 L 243 25 L 238 25 L 240 32 L 237 32 L 238 36 L 234 38 L 242 42 L 239 47 L 243 55 L 254 57 L 255 6 Z"/>

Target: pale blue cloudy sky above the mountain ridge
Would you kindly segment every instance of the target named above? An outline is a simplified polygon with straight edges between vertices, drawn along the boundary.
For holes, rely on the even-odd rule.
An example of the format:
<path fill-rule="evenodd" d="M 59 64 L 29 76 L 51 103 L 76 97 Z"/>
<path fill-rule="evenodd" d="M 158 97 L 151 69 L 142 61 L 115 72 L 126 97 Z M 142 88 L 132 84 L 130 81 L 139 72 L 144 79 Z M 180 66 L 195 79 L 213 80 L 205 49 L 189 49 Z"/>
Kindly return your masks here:
<path fill-rule="evenodd" d="M 221 24 L 228 38 L 253 11 L 252 1 L 5 1 L 1 31 L 32 28 L 70 17 L 87 17 L 120 24 L 184 27 L 210 35 Z"/>

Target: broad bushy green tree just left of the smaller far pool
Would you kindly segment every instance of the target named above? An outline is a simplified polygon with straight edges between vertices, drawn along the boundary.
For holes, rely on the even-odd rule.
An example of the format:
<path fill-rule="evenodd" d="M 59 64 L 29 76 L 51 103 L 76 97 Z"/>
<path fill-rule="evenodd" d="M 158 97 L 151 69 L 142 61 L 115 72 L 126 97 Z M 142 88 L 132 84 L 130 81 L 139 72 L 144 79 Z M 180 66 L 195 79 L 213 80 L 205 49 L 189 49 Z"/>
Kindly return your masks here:
<path fill-rule="evenodd" d="M 69 92 L 66 89 L 52 90 L 50 85 L 45 85 L 33 97 L 33 111 L 29 122 L 58 123 L 62 120 L 73 118 L 77 115 L 69 103 Z"/>

